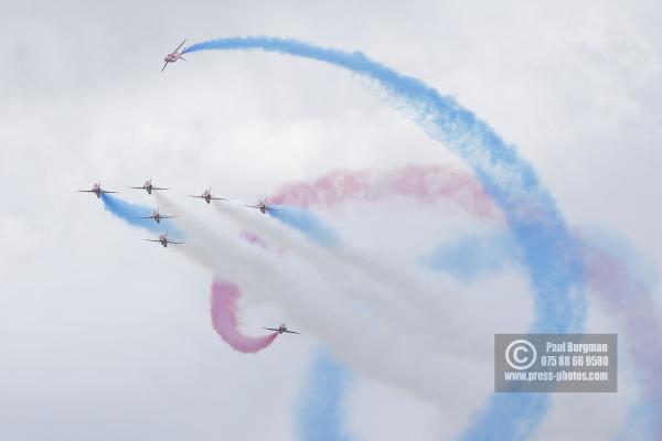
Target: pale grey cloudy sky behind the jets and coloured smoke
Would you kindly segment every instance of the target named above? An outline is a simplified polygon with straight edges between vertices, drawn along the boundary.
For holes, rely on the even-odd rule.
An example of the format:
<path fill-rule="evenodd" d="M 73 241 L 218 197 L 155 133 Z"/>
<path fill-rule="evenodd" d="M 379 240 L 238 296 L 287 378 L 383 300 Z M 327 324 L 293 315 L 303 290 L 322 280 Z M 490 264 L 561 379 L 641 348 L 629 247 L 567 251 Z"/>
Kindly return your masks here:
<path fill-rule="evenodd" d="M 531 287 L 520 268 L 468 284 L 413 263 L 427 244 L 493 226 L 450 202 L 420 207 L 395 198 L 319 214 L 346 244 L 386 256 L 439 293 L 442 343 L 435 352 L 398 329 L 404 312 L 375 309 L 389 324 L 381 327 L 370 312 L 376 305 L 344 297 L 341 304 L 335 284 L 320 288 L 328 294 L 320 297 L 324 316 L 346 330 L 365 316 L 375 329 L 366 326 L 361 343 L 349 332 L 316 327 L 318 316 L 306 316 L 314 304 L 295 308 L 306 300 L 298 292 L 328 283 L 323 256 L 308 248 L 282 259 L 282 268 L 277 259 L 260 260 L 284 275 L 273 291 L 252 284 L 261 277 L 257 263 L 233 266 L 243 248 L 217 250 L 233 268 L 228 276 L 246 283 L 247 332 L 284 321 L 302 332 L 258 354 L 229 348 L 209 314 L 214 271 L 142 241 L 149 232 L 130 228 L 76 190 L 100 180 L 122 198 L 153 206 L 153 197 L 127 189 L 152 178 L 174 189 L 168 196 L 188 219 L 229 238 L 236 225 L 185 195 L 212 186 L 254 203 L 285 183 L 339 169 L 469 169 L 373 84 L 328 65 L 207 52 L 161 74 L 163 54 L 183 39 L 295 37 L 362 51 L 425 80 L 517 146 L 569 226 L 630 244 L 656 287 L 662 15 L 655 2 L 64 1 L 2 10 L 0 432 L 7 438 L 296 439 L 305 379 L 317 351 L 328 347 L 352 372 L 344 404 L 352 439 L 453 439 L 491 395 L 493 334 L 531 324 Z M 290 300 L 276 289 L 289 291 Z M 373 287 L 361 283 L 366 292 Z M 660 294 L 654 288 L 658 308 Z M 587 331 L 621 331 L 594 306 L 589 295 Z M 348 311 L 346 322 L 335 308 Z M 394 346 L 373 361 L 360 358 L 359 345 L 381 342 L 382 331 L 399 331 Z M 429 366 L 412 372 L 438 376 L 434 397 L 419 394 L 425 385 L 403 387 L 406 363 L 393 372 L 375 367 L 398 357 Z M 634 372 L 623 359 L 616 395 L 552 397 L 535 439 L 627 432 L 641 387 Z"/>

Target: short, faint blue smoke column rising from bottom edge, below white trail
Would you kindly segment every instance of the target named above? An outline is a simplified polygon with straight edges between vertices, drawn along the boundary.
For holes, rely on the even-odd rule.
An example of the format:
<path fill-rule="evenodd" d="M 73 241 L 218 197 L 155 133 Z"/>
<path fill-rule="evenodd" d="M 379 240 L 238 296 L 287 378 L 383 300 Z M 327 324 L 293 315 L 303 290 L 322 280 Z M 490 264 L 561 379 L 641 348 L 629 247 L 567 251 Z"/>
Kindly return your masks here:
<path fill-rule="evenodd" d="M 301 441 L 350 441 L 343 428 L 342 406 L 349 386 L 348 370 L 323 349 L 318 349 L 308 381 L 297 405 L 298 439 Z"/>

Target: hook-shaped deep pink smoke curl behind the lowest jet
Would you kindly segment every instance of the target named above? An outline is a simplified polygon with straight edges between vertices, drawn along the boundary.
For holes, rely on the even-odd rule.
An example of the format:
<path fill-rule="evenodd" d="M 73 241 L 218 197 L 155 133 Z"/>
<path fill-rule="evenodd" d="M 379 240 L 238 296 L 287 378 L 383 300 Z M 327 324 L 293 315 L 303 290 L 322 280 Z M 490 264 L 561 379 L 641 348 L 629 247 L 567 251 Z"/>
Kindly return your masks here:
<path fill-rule="evenodd" d="M 222 280 L 212 282 L 212 324 L 233 349 L 245 354 L 255 354 L 269 346 L 278 336 L 271 333 L 259 337 L 244 335 L 239 331 L 237 319 L 237 301 L 239 300 L 239 287 Z"/>

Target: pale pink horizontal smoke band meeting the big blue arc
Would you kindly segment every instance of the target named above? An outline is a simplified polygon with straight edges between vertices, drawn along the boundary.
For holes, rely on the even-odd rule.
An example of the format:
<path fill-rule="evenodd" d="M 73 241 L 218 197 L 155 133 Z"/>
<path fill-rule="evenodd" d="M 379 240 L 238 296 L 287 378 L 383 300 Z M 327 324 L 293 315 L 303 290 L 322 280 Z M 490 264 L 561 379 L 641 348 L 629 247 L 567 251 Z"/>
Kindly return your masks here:
<path fill-rule="evenodd" d="M 441 165 L 408 165 L 388 171 L 339 170 L 314 181 L 285 184 L 270 201 L 309 207 L 334 206 L 348 200 L 377 202 L 394 196 L 408 196 L 427 204 L 451 200 L 480 217 L 501 218 L 501 212 L 471 174 Z"/>

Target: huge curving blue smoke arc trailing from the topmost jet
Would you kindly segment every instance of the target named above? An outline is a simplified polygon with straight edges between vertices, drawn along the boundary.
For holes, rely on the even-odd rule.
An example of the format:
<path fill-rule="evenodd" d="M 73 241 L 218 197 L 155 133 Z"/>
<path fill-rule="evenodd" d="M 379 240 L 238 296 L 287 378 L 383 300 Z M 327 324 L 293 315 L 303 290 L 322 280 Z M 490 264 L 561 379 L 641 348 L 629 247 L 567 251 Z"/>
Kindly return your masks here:
<path fill-rule="evenodd" d="M 360 52 L 346 53 L 295 40 L 231 37 L 184 51 L 263 50 L 329 63 L 375 80 L 399 110 L 461 157 L 503 211 L 524 256 L 535 294 L 532 332 L 579 332 L 586 315 L 583 267 L 576 241 L 532 165 L 485 122 L 425 83 L 403 76 Z M 494 395 L 465 439 L 523 439 L 542 420 L 545 395 Z M 499 429 L 499 430 L 496 430 Z"/>

